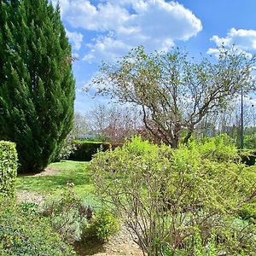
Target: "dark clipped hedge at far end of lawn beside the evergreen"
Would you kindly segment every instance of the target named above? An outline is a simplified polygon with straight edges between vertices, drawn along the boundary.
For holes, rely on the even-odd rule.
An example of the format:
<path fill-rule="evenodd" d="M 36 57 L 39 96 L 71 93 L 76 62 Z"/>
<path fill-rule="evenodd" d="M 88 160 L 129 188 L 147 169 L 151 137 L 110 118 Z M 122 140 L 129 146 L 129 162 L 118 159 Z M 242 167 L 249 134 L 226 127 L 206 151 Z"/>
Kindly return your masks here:
<path fill-rule="evenodd" d="M 75 150 L 70 154 L 68 160 L 90 161 L 97 151 L 106 151 L 110 148 L 110 143 L 74 141 Z"/>

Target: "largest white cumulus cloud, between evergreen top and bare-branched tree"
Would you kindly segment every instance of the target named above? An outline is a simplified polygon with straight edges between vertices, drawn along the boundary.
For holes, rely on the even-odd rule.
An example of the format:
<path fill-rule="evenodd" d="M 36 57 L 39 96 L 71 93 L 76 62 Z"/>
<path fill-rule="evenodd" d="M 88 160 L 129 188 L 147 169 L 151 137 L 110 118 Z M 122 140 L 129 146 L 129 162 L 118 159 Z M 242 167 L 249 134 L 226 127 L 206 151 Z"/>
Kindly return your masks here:
<path fill-rule="evenodd" d="M 137 45 L 168 50 L 176 40 L 201 32 L 195 15 L 176 2 L 165 0 L 60 0 L 61 15 L 70 26 L 96 32 L 87 44 L 84 61 L 113 61 Z"/>

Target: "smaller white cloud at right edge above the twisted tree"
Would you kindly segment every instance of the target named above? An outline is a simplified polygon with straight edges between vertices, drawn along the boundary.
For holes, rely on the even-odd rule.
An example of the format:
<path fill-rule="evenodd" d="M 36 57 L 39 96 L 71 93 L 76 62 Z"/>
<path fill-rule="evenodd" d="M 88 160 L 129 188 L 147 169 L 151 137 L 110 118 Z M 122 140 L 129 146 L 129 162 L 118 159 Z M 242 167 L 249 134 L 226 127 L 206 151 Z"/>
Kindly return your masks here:
<path fill-rule="evenodd" d="M 219 38 L 217 35 L 214 35 L 210 39 L 217 47 L 224 45 L 226 48 L 230 48 L 232 45 L 235 45 L 236 49 L 247 53 L 256 52 L 256 31 L 255 30 L 246 30 L 246 29 L 237 29 L 231 28 L 230 32 L 227 33 L 225 38 Z M 207 51 L 209 54 L 218 54 L 217 48 L 210 48 Z"/>

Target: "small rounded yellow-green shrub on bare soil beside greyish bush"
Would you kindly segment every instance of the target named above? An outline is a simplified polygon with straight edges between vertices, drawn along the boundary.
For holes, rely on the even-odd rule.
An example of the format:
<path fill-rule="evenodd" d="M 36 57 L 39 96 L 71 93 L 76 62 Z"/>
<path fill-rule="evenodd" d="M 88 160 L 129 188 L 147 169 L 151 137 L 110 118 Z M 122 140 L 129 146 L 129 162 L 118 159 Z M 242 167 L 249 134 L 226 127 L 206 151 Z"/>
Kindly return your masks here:
<path fill-rule="evenodd" d="M 119 221 L 112 212 L 102 209 L 96 212 L 96 216 L 90 221 L 87 232 L 90 236 L 96 236 L 100 241 L 108 241 L 110 236 L 120 229 Z"/>

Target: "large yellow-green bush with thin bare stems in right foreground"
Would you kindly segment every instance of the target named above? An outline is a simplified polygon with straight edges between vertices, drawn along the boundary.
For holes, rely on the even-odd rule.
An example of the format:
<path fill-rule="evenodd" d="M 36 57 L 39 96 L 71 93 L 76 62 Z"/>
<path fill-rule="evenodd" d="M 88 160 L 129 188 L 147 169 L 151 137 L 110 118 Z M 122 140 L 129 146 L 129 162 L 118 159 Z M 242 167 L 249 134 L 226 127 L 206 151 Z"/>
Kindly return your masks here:
<path fill-rule="evenodd" d="M 217 254 L 255 255 L 255 226 L 237 217 L 256 196 L 255 167 L 241 164 L 226 137 L 176 150 L 135 138 L 96 154 L 90 171 L 97 195 L 125 216 L 144 253 L 195 255 L 212 244 Z"/>

